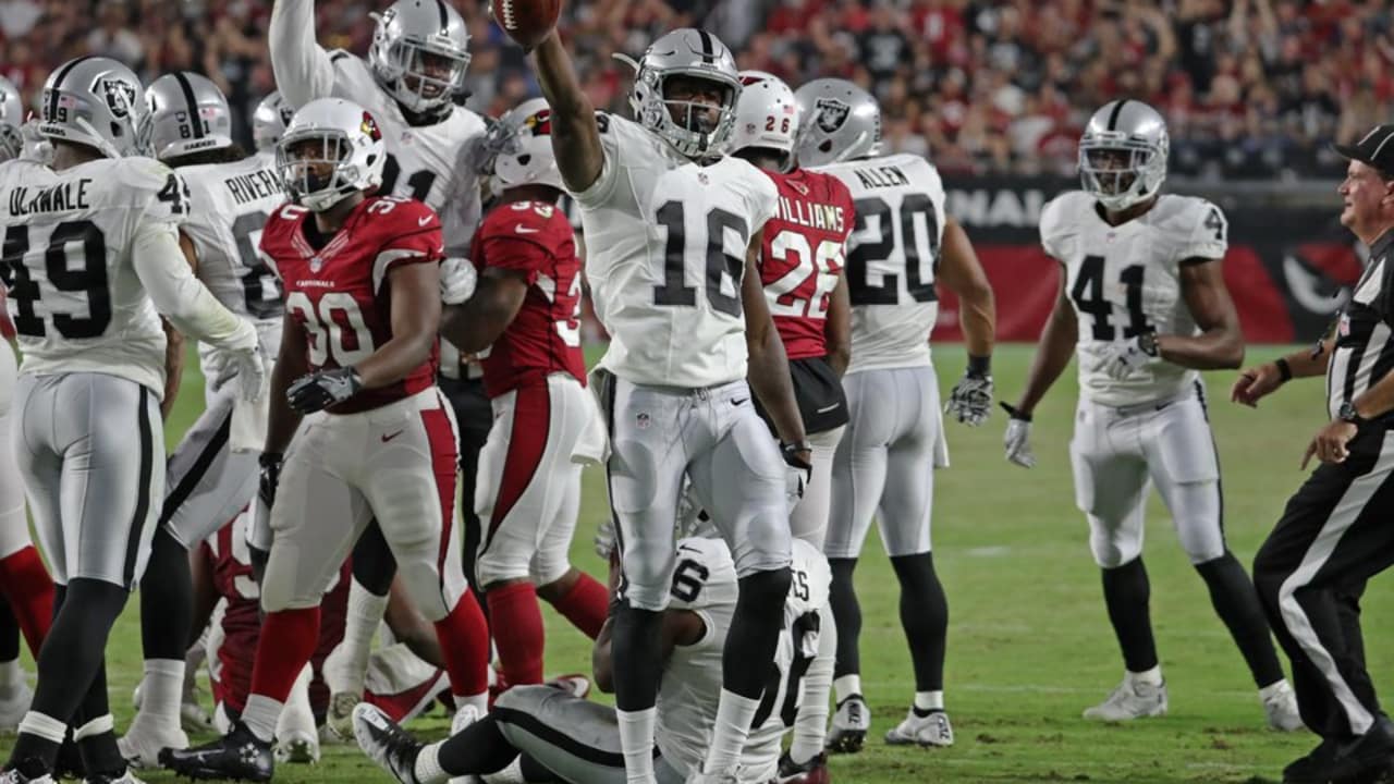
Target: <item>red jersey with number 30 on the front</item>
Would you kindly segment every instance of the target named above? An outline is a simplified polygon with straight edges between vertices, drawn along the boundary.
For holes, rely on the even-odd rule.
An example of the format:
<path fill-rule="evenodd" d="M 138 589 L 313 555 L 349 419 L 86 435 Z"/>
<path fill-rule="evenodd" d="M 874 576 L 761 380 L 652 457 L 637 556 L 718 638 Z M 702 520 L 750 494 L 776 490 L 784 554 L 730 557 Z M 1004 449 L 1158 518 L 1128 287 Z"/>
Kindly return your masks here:
<path fill-rule="evenodd" d="M 286 287 L 286 312 L 309 336 L 311 370 L 347 367 L 392 339 L 388 273 L 403 264 L 439 264 L 441 219 L 415 199 L 369 197 L 319 248 L 307 236 L 312 219 L 308 209 L 287 204 L 266 219 L 261 248 Z M 365 412 L 428 389 L 438 359 L 439 347 L 432 347 L 401 381 L 364 389 L 329 410 Z"/>

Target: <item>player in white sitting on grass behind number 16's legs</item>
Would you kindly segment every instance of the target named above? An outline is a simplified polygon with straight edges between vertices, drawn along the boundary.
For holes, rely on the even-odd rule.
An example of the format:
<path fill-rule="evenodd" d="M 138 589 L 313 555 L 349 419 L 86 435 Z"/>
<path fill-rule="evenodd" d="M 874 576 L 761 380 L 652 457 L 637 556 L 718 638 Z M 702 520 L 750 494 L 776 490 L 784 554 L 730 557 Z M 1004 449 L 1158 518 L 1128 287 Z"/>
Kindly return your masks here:
<path fill-rule="evenodd" d="M 721 540 L 684 538 L 671 600 L 662 615 L 654 777 L 659 784 L 691 781 L 707 756 L 722 689 L 722 643 L 736 612 L 736 566 Z M 742 781 L 828 781 L 821 753 L 822 724 L 806 724 L 803 711 L 827 713 L 835 644 L 829 635 L 827 559 L 806 541 L 793 543 L 793 580 L 783 605 L 783 629 L 765 671 L 768 684 L 754 730 L 740 752 Z M 595 678 L 613 682 L 613 619 L 592 653 Z M 821 631 L 820 631 L 821 629 Z M 796 720 L 796 716 L 800 720 Z M 797 721 L 797 723 L 796 723 Z M 781 741 L 793 727 L 793 742 Z M 549 686 L 517 688 L 464 732 L 431 745 L 407 735 L 371 706 L 354 711 L 358 745 L 401 784 L 443 784 L 450 776 L 509 771 L 512 781 L 623 784 L 619 720 L 608 706 L 580 700 Z M 810 735 L 804 728 L 814 728 Z M 521 756 L 519 756 L 521 753 Z M 792 759 L 807 757 L 804 764 Z"/>

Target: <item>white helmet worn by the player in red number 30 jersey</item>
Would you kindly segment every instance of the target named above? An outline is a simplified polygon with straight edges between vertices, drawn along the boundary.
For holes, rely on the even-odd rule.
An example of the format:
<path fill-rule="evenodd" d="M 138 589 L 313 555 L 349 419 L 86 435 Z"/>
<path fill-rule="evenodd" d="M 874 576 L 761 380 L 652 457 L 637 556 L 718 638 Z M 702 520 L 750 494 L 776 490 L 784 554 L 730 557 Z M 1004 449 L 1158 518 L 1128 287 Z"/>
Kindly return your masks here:
<path fill-rule="evenodd" d="M 290 119 L 276 145 L 276 172 L 297 204 L 323 212 L 355 191 L 381 186 L 386 153 L 378 121 L 367 109 L 342 98 L 319 98 Z"/>

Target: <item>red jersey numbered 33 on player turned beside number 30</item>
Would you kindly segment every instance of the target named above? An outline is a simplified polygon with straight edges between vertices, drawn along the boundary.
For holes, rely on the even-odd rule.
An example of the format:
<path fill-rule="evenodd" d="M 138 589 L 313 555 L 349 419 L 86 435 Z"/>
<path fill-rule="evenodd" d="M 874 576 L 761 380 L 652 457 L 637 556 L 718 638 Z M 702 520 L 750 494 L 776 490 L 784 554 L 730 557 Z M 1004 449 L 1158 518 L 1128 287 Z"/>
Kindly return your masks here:
<path fill-rule="evenodd" d="M 513 324 L 481 354 L 484 391 L 498 398 L 528 381 L 569 372 L 585 384 L 581 354 L 581 259 L 566 213 L 541 201 L 493 208 L 473 243 L 474 265 L 527 275 Z"/>

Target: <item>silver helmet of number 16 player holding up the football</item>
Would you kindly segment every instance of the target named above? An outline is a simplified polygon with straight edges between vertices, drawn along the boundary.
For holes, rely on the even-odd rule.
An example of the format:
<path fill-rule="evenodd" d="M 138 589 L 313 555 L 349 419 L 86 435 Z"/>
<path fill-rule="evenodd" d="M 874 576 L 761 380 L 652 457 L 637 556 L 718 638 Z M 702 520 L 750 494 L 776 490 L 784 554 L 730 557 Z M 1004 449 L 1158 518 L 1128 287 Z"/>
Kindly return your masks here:
<path fill-rule="evenodd" d="M 711 107 L 694 100 L 671 100 L 668 81 L 687 77 L 715 82 L 722 93 L 717 120 Z M 740 74 L 730 49 L 703 29 L 680 28 L 655 40 L 637 64 L 629 105 L 638 123 L 658 134 L 684 158 L 721 155 L 736 124 Z M 679 120 L 676 117 L 683 117 Z"/>

